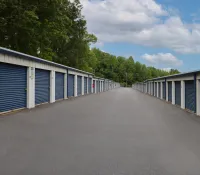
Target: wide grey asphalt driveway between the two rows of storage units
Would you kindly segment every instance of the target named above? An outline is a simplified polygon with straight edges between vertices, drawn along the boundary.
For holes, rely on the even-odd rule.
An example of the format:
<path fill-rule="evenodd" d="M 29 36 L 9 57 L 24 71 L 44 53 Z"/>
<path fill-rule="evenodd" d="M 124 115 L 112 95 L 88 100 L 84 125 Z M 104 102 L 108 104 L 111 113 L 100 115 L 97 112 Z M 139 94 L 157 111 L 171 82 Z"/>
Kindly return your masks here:
<path fill-rule="evenodd" d="M 199 175 L 200 119 L 133 89 L 0 118 L 1 175 Z"/>

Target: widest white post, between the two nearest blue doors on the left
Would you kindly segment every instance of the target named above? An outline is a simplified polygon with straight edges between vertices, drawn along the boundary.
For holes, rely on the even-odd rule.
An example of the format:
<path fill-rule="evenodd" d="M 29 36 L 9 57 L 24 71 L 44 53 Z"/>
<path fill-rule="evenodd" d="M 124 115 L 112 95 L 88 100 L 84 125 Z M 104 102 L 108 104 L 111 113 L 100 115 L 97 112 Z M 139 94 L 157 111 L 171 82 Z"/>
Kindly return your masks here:
<path fill-rule="evenodd" d="M 27 108 L 35 107 L 35 68 L 27 68 Z"/>

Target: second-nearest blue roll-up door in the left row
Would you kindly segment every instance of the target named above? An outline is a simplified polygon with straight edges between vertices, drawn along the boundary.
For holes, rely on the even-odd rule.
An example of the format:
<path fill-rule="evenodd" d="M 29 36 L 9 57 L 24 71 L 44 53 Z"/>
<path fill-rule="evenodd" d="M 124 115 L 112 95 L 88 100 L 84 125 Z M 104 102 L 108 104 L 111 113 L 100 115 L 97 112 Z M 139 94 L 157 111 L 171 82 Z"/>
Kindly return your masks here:
<path fill-rule="evenodd" d="M 35 104 L 50 100 L 50 71 L 35 69 Z"/>

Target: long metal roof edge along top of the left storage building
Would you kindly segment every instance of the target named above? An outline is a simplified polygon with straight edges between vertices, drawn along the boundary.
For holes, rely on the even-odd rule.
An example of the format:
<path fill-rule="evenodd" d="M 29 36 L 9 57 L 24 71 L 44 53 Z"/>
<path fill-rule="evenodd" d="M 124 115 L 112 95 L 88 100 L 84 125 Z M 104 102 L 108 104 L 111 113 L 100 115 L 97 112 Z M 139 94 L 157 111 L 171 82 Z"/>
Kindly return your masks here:
<path fill-rule="evenodd" d="M 57 66 L 57 67 L 73 70 L 73 71 L 88 74 L 88 75 L 94 75 L 90 72 L 86 72 L 86 71 L 79 70 L 79 69 L 76 69 L 76 68 L 73 68 L 73 67 L 65 66 L 65 65 L 55 63 L 55 62 L 52 62 L 52 61 L 44 60 L 44 59 L 39 58 L 39 57 L 35 57 L 35 56 L 31 56 L 31 55 L 28 55 L 28 54 L 25 54 L 25 53 L 17 52 L 17 51 L 10 50 L 10 49 L 4 48 L 4 47 L 0 47 L 0 53 L 7 54 L 7 55 L 14 55 L 14 56 L 22 57 L 22 58 L 25 58 L 25 59 L 33 60 L 33 61 L 36 61 L 36 62 L 42 62 L 42 63 L 54 65 L 54 66 Z"/>

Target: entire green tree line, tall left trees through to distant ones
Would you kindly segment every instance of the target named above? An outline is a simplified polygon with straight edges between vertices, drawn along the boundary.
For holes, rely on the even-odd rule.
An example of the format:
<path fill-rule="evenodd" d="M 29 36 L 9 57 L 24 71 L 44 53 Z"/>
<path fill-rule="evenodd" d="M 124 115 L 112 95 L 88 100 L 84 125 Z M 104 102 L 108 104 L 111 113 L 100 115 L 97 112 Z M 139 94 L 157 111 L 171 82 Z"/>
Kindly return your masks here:
<path fill-rule="evenodd" d="M 178 73 L 90 49 L 97 38 L 81 10 L 79 0 L 0 0 L 0 46 L 128 85 Z"/>

